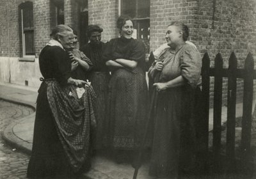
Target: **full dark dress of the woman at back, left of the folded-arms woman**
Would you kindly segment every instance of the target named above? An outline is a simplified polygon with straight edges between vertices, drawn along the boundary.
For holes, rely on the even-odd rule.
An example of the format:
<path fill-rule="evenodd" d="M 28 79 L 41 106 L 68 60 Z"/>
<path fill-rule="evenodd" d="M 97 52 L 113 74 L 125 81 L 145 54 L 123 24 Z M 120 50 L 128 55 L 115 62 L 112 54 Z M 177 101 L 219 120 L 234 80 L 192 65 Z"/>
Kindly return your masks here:
<path fill-rule="evenodd" d="M 86 76 L 91 82 L 93 89 L 97 95 L 96 100 L 96 120 L 97 128 L 95 136 L 93 136 L 93 148 L 99 150 L 102 148 L 104 130 L 106 128 L 106 113 L 107 100 L 108 100 L 108 82 L 110 79 L 109 70 L 106 66 L 106 61 L 102 58 L 102 51 L 106 43 L 100 44 L 87 43 L 81 47 L 80 51 L 92 61 L 92 68 L 86 72 Z"/>

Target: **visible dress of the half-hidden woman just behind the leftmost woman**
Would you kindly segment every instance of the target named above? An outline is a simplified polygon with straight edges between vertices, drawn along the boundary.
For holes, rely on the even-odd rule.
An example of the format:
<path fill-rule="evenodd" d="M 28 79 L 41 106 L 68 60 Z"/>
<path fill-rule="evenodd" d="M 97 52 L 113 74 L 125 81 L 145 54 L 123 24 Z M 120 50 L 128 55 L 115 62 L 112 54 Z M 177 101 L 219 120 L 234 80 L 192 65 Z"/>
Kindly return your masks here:
<path fill-rule="evenodd" d="M 79 58 L 79 59 L 85 61 L 86 63 L 88 63 L 90 68 L 92 68 L 92 62 L 90 61 L 90 59 L 88 59 L 86 57 L 86 55 L 83 52 L 79 51 L 78 49 L 72 49 L 70 52 L 72 52 L 72 54 L 76 58 Z M 83 67 L 81 65 L 78 65 L 76 70 L 71 72 L 71 77 L 73 79 L 81 79 L 84 81 L 86 81 L 86 79 L 88 79 L 88 76 L 86 75 L 86 71 L 83 69 Z"/>

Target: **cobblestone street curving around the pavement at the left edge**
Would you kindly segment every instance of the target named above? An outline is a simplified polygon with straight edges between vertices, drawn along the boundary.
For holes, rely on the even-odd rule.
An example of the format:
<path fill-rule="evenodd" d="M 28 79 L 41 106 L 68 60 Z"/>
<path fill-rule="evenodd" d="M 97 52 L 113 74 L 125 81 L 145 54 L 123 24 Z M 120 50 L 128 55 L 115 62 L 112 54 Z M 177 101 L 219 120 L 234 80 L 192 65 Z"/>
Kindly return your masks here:
<path fill-rule="evenodd" d="M 24 105 L 12 104 L 0 100 L 0 130 L 24 116 L 33 113 L 33 109 Z M 28 166 L 29 156 L 11 148 L 3 141 L 0 136 L 0 178 L 15 179 L 26 178 L 26 169 Z"/>

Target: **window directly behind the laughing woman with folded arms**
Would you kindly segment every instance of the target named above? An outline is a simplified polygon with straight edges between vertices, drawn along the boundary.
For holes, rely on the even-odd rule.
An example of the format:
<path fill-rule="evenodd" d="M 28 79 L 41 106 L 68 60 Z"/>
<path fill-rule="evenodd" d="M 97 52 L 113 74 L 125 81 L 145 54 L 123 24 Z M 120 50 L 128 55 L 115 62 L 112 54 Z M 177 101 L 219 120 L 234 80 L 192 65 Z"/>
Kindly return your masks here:
<path fill-rule="evenodd" d="M 150 0 L 121 0 L 121 14 L 132 18 L 136 38 L 143 41 L 146 52 L 149 52 Z"/>

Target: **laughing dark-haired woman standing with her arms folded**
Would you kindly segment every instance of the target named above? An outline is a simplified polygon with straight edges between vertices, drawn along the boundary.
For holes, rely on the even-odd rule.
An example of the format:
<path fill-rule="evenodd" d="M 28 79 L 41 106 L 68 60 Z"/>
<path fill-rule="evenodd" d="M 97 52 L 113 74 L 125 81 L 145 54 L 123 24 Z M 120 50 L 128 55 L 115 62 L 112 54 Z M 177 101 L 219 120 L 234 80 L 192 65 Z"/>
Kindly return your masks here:
<path fill-rule="evenodd" d="M 111 39 L 103 54 L 111 69 L 106 136 L 116 162 L 132 162 L 147 121 L 145 47 L 143 42 L 132 38 L 133 24 L 129 17 L 119 17 L 117 27 L 120 38 Z"/>

